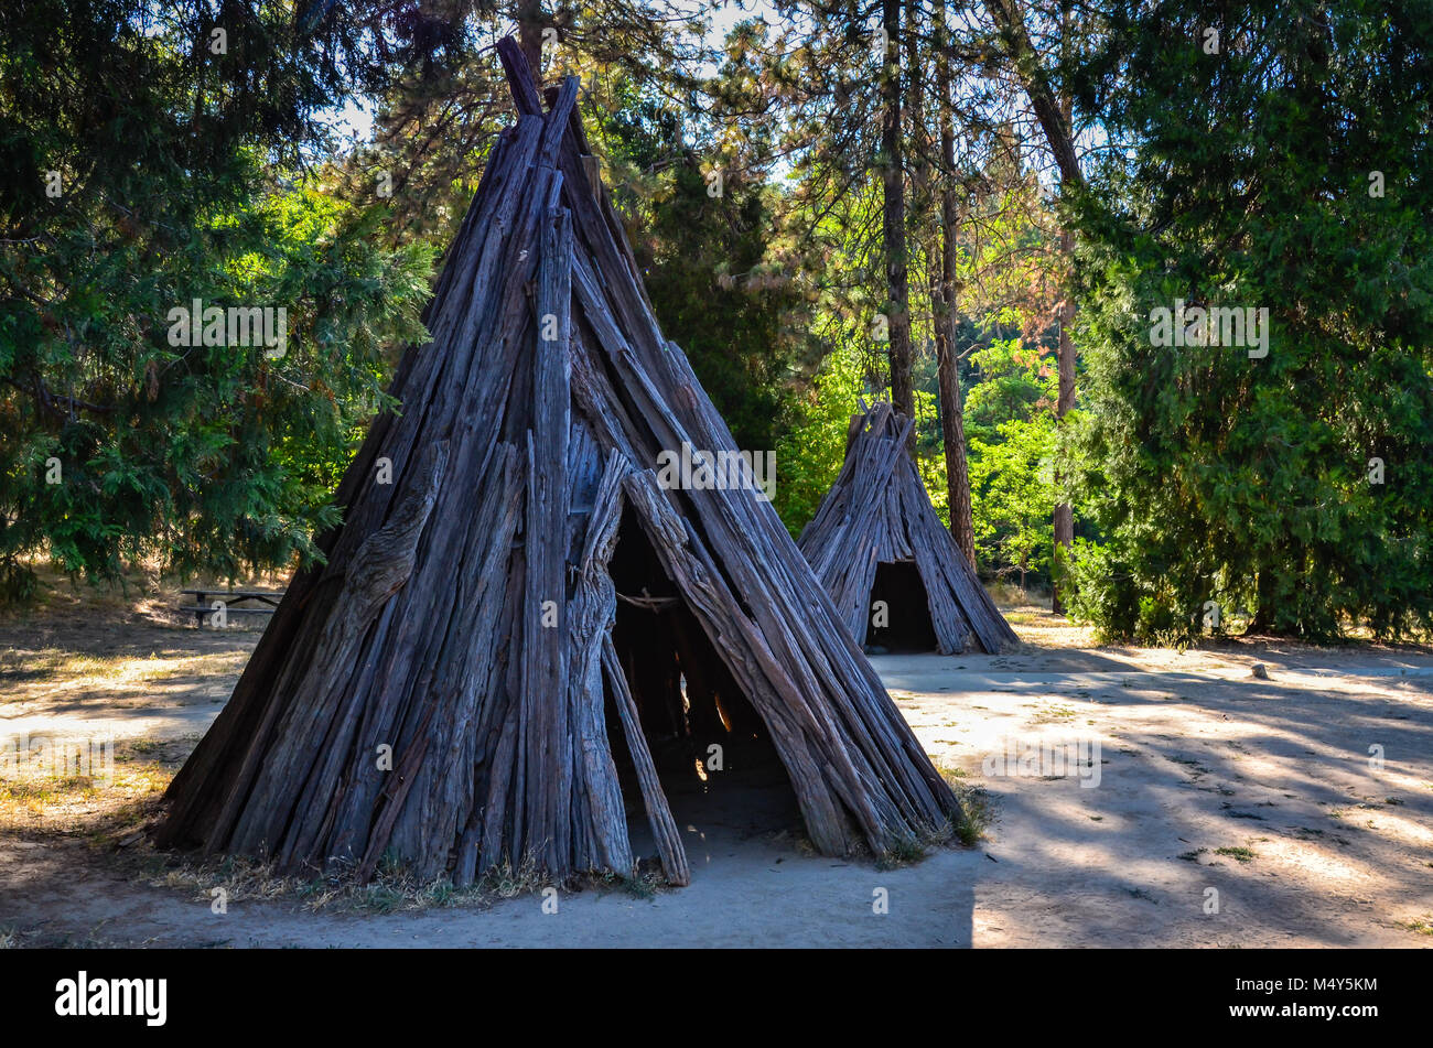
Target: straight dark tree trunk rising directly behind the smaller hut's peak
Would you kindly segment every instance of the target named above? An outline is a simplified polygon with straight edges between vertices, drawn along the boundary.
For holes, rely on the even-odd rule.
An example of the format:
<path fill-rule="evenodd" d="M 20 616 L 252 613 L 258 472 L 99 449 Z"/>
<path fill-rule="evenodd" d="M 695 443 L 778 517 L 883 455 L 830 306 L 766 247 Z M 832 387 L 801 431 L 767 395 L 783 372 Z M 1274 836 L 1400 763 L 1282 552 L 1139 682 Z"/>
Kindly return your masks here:
<path fill-rule="evenodd" d="M 901 150 L 900 119 L 900 0 L 881 0 L 881 24 L 886 29 L 884 69 L 881 72 L 881 100 L 884 122 L 881 150 L 886 168 L 883 233 L 886 241 L 886 319 L 890 342 L 887 354 L 891 369 L 891 404 L 907 418 L 916 417 L 916 398 L 910 372 L 910 285 L 906 256 L 906 165 Z M 909 447 L 914 451 L 914 427 Z"/>

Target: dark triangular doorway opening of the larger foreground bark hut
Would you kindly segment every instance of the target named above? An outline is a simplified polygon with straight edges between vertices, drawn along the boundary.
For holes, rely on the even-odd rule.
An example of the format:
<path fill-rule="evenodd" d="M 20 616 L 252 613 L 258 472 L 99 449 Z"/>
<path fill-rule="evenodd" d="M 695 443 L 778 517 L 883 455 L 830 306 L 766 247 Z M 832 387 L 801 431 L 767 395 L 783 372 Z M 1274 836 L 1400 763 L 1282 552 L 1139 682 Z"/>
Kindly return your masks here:
<path fill-rule="evenodd" d="M 767 726 L 631 511 L 608 570 L 618 591 L 613 649 L 692 866 L 705 863 L 712 836 L 801 832 L 795 790 Z M 608 737 L 632 852 L 649 858 L 655 842 L 613 703 L 608 683 Z"/>

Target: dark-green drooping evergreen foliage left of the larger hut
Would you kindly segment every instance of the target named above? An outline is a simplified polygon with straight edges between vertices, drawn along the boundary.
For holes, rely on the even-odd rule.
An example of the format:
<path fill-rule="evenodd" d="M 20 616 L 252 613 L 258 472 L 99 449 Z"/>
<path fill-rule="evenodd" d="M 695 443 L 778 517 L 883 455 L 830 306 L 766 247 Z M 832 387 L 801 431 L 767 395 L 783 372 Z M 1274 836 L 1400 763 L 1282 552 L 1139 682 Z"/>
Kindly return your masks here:
<path fill-rule="evenodd" d="M 221 56 L 183 27 L 206 19 L 20 9 L 0 21 L 9 594 L 27 596 L 37 553 L 97 578 L 149 555 L 228 577 L 312 555 L 387 349 L 423 336 L 431 269 L 294 166 L 337 90 L 331 53 L 315 39 L 292 63 L 287 4 L 234 11 Z M 171 311 L 193 299 L 284 308 L 287 352 L 176 345 Z"/>

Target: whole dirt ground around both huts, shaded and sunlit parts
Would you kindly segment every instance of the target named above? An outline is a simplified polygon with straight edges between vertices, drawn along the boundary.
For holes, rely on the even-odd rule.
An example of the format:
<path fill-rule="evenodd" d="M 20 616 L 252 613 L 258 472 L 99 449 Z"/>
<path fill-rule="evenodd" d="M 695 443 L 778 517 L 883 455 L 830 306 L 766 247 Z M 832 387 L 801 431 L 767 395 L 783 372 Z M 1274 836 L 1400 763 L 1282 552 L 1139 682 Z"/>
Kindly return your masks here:
<path fill-rule="evenodd" d="M 685 889 L 215 913 L 132 829 L 259 634 L 165 603 L 0 621 L 0 742 L 112 736 L 116 755 L 107 785 L 0 766 L 0 945 L 1433 945 L 1433 651 L 1101 649 L 1037 607 L 1006 608 L 1012 654 L 873 659 L 937 765 L 983 790 L 976 848 L 821 858 L 771 790 L 734 787 L 682 819 Z"/>

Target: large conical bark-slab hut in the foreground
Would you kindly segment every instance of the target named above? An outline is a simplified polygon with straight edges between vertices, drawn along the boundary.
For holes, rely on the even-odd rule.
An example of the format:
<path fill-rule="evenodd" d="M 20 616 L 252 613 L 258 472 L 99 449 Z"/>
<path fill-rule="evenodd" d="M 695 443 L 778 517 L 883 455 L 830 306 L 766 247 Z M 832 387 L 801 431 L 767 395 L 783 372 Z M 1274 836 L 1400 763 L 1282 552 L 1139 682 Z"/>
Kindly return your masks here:
<path fill-rule="evenodd" d="M 543 100 L 517 46 L 499 52 L 519 119 L 433 341 L 406 354 L 327 564 L 295 576 L 156 842 L 360 878 L 391 856 L 456 885 L 529 859 L 629 875 L 631 807 L 682 885 L 651 746 L 674 733 L 774 749 L 828 855 L 939 829 L 959 802 L 751 474 L 659 482 L 663 450 L 735 444 L 658 329 L 576 79 Z"/>

